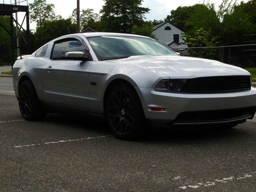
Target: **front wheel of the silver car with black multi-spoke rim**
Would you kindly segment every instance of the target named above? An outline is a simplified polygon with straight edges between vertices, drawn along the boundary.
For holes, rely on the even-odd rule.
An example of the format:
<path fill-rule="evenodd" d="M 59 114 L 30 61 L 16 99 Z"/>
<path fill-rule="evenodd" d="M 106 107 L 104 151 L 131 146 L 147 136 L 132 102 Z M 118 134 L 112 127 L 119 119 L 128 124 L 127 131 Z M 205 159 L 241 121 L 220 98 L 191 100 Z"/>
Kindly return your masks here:
<path fill-rule="evenodd" d="M 132 140 L 144 133 L 145 118 L 137 92 L 128 84 L 115 86 L 105 105 L 105 117 L 118 139 Z"/>

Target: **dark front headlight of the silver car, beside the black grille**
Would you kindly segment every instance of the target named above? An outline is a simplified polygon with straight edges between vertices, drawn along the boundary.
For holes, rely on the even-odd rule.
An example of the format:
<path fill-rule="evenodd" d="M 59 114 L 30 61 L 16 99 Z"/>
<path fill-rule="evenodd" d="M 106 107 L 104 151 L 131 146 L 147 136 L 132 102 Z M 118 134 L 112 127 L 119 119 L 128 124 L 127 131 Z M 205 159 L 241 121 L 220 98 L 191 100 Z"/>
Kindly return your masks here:
<path fill-rule="evenodd" d="M 186 79 L 162 79 L 157 83 L 155 91 L 180 92 L 185 82 Z"/>

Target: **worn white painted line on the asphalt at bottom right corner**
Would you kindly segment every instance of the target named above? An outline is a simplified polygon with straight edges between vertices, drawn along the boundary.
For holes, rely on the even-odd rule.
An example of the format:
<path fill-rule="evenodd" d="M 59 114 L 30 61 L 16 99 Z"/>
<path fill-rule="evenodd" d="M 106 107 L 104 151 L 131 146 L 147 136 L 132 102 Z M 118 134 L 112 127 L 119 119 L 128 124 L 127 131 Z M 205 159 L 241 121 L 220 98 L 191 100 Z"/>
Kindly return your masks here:
<path fill-rule="evenodd" d="M 239 177 L 227 177 L 227 178 L 222 178 L 222 179 L 216 179 L 214 181 L 207 181 L 204 183 L 197 183 L 195 185 L 187 185 L 187 186 L 181 186 L 179 188 L 181 189 L 189 189 L 189 188 L 199 188 L 199 187 L 209 187 L 209 186 L 214 186 L 216 184 L 221 184 L 221 183 L 227 183 L 230 181 L 234 181 L 234 180 L 242 180 L 242 179 L 247 179 L 247 178 L 251 178 L 251 177 L 255 177 L 256 176 L 256 172 L 252 172 L 250 174 L 243 174 L 243 176 L 239 176 Z"/>

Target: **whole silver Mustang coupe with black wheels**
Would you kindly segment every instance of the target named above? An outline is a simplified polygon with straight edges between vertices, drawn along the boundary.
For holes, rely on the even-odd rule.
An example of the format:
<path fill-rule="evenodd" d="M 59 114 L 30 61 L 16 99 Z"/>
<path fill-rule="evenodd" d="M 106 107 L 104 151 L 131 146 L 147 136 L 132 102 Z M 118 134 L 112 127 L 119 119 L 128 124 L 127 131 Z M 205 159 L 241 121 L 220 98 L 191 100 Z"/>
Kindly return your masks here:
<path fill-rule="evenodd" d="M 249 72 L 182 57 L 138 35 L 81 33 L 18 57 L 13 85 L 26 120 L 73 111 L 102 115 L 112 133 L 133 139 L 146 122 L 234 126 L 252 119 Z"/>

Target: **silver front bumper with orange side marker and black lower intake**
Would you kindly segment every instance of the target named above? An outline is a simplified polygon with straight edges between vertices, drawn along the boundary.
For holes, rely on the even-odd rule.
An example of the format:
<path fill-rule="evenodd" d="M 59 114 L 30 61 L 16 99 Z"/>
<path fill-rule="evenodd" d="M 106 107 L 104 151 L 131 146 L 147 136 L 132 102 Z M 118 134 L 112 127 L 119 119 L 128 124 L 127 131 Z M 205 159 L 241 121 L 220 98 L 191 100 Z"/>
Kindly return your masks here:
<path fill-rule="evenodd" d="M 153 121 L 161 120 L 176 124 L 243 121 L 247 118 L 253 118 L 256 109 L 255 88 L 243 92 L 222 94 L 176 94 L 156 92 L 154 89 L 137 89 L 140 93 L 145 118 Z M 163 108 L 164 111 L 152 111 L 151 108 Z M 204 112 L 208 115 L 203 115 Z M 184 113 L 188 119 L 183 118 L 181 121 L 180 116 Z M 232 113 L 233 115 L 224 117 L 225 113 Z M 191 118 L 193 114 L 194 117 Z M 185 116 L 183 115 L 183 117 Z M 213 117 L 209 118 L 209 116 Z"/>

